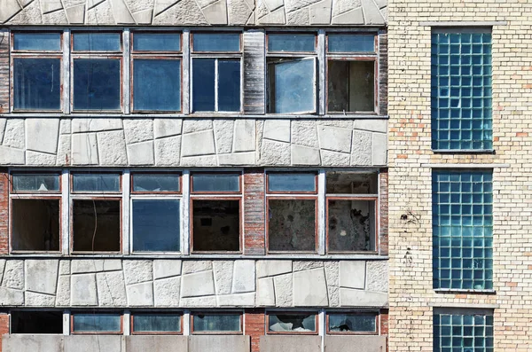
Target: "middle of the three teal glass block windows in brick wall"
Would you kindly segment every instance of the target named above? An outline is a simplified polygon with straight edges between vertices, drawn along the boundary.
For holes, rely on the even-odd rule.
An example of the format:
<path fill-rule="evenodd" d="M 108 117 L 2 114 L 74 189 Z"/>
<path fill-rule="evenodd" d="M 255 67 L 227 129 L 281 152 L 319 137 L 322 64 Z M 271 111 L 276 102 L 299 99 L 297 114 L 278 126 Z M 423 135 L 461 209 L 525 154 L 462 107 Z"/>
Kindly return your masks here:
<path fill-rule="evenodd" d="M 492 171 L 433 172 L 434 288 L 493 288 Z"/>

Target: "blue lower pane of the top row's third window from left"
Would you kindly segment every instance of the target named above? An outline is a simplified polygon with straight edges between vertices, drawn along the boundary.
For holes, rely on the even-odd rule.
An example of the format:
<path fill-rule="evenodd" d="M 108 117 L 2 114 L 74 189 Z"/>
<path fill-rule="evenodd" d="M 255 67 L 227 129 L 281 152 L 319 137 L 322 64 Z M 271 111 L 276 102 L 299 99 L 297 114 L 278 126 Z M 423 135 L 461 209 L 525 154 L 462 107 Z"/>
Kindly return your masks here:
<path fill-rule="evenodd" d="M 181 60 L 134 59 L 135 110 L 181 110 Z"/>

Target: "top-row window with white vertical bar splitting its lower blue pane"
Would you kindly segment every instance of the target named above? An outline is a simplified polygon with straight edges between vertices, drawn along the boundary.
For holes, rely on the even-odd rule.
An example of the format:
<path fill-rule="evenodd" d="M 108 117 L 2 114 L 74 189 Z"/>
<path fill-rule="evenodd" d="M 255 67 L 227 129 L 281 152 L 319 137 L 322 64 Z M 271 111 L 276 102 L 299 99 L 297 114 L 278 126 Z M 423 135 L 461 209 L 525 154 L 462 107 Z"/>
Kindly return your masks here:
<path fill-rule="evenodd" d="M 241 111 L 240 33 L 192 34 L 192 112 Z"/>

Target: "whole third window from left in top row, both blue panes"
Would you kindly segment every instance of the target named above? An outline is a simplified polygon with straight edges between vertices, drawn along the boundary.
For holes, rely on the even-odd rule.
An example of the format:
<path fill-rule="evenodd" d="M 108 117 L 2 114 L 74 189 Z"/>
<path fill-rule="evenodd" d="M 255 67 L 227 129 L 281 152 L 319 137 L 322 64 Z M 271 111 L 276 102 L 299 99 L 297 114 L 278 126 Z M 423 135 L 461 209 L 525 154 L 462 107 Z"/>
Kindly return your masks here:
<path fill-rule="evenodd" d="M 181 35 L 134 32 L 133 111 L 181 111 Z"/>

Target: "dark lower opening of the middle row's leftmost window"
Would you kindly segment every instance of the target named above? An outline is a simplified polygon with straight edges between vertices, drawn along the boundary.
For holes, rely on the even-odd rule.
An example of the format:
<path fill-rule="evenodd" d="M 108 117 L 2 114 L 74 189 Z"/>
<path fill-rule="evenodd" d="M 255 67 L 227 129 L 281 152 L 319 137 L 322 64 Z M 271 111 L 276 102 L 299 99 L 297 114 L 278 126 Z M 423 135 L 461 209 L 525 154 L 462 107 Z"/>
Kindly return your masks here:
<path fill-rule="evenodd" d="M 12 199 L 12 249 L 59 251 L 59 199 Z"/>

